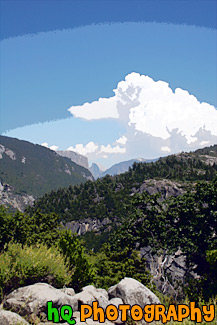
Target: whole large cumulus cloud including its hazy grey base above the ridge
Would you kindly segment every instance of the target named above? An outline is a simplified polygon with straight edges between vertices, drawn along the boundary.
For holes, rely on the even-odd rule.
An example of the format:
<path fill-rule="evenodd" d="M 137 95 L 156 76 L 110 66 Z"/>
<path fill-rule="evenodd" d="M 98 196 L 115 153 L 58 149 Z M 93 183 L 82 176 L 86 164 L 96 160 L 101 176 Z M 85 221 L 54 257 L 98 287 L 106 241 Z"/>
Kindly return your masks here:
<path fill-rule="evenodd" d="M 194 150 L 217 143 L 217 110 L 199 102 L 188 91 L 173 91 L 165 81 L 130 73 L 114 89 L 114 96 L 73 106 L 69 111 L 83 119 L 118 119 L 125 135 L 95 153 L 120 153 L 136 158 Z"/>

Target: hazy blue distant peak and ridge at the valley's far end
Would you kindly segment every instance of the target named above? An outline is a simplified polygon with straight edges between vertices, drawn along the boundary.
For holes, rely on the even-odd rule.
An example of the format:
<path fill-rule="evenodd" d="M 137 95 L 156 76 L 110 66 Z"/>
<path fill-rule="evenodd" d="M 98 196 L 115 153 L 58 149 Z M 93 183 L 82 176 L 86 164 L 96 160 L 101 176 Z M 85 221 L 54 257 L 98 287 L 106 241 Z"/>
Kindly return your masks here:
<path fill-rule="evenodd" d="M 106 169 L 105 171 L 102 171 L 97 164 L 92 164 L 92 166 L 89 168 L 91 171 L 93 177 L 95 179 L 104 177 L 105 175 L 119 175 L 122 173 L 125 173 L 129 170 L 129 167 L 131 167 L 134 162 L 154 162 L 157 161 L 157 159 L 144 159 L 144 158 L 137 158 L 137 159 L 131 159 L 127 161 L 122 161 L 118 164 L 115 164 L 111 166 L 110 168 Z"/>

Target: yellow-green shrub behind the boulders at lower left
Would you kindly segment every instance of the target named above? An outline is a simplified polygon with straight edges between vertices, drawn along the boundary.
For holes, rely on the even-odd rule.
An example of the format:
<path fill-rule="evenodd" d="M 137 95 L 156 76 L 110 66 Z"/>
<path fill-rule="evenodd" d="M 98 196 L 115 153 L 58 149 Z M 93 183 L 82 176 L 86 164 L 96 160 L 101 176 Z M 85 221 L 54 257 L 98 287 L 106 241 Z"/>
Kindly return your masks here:
<path fill-rule="evenodd" d="M 57 248 L 9 243 L 0 255 L 0 293 L 36 282 L 62 287 L 70 283 L 72 273 Z"/>

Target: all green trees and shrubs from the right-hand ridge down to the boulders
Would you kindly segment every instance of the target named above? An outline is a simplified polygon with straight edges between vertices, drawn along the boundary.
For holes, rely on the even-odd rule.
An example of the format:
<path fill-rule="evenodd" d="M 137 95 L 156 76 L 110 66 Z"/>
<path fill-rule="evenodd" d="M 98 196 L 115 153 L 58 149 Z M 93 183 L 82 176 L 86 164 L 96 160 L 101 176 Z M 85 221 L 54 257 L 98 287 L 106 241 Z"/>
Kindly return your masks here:
<path fill-rule="evenodd" d="M 124 276 L 154 289 L 146 261 L 139 254 L 140 248 L 150 246 L 155 254 L 181 249 L 188 268 L 184 295 L 192 301 L 209 301 L 217 294 L 217 167 L 209 165 L 204 154 L 216 158 L 217 146 L 204 153 L 134 164 L 125 174 L 46 194 L 25 213 L 12 214 L 1 207 L 1 290 L 7 293 L 33 283 L 36 273 L 58 285 L 68 283 L 76 291 L 91 283 L 108 288 Z M 156 177 L 183 182 L 185 193 L 162 200 L 158 194 L 137 191 L 145 179 Z M 110 231 L 87 233 L 82 243 L 61 226 L 61 222 L 87 217 L 107 217 Z M 30 258 L 33 251 L 39 264 Z M 54 251 L 63 267 L 59 275 L 57 266 L 49 264 Z M 46 252 L 47 260 L 43 260 Z M 192 277 L 192 271 L 199 277 Z"/>

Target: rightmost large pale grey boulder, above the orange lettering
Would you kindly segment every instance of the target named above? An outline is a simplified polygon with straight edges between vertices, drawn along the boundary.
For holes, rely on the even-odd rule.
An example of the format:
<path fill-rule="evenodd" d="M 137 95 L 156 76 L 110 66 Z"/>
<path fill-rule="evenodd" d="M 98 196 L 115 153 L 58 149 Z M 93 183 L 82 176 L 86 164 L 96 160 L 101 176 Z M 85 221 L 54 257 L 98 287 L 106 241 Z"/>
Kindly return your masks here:
<path fill-rule="evenodd" d="M 109 298 L 121 298 L 124 304 L 139 305 L 160 304 L 158 297 L 142 283 L 132 278 L 124 278 L 108 290 Z"/>

